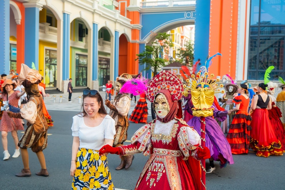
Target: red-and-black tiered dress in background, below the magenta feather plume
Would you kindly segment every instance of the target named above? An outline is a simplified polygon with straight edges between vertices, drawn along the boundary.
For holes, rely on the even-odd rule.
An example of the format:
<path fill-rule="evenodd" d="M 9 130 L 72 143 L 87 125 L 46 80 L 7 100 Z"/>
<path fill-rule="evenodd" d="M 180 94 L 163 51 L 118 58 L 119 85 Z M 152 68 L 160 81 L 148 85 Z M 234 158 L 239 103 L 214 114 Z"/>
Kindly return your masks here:
<path fill-rule="evenodd" d="M 145 99 L 145 94 L 140 95 L 140 99 L 133 110 L 129 120 L 135 123 L 146 123 L 147 121 L 147 103 Z"/>

